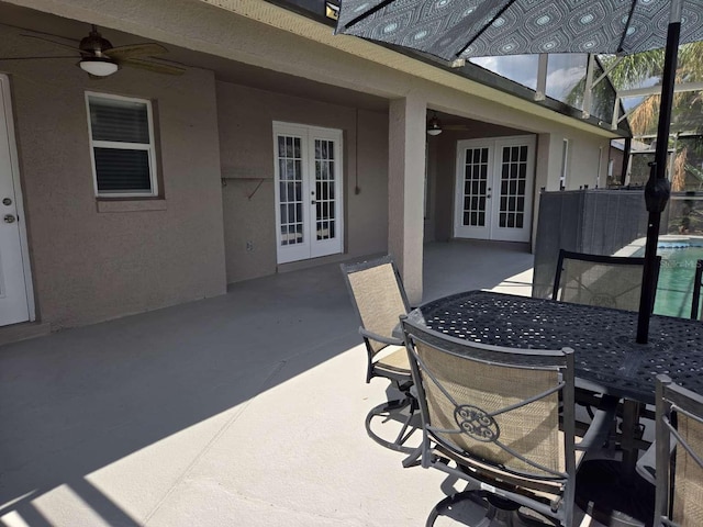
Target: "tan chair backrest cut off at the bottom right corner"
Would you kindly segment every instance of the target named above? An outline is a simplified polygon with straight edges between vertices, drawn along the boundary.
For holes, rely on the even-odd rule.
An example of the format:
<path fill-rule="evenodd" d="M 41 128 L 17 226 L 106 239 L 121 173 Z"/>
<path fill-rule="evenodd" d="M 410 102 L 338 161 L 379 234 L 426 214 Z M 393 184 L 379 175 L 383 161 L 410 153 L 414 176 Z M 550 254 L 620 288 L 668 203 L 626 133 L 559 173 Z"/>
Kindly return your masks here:
<path fill-rule="evenodd" d="M 703 525 L 703 396 L 658 375 L 656 413 L 655 525 L 698 527 Z"/>

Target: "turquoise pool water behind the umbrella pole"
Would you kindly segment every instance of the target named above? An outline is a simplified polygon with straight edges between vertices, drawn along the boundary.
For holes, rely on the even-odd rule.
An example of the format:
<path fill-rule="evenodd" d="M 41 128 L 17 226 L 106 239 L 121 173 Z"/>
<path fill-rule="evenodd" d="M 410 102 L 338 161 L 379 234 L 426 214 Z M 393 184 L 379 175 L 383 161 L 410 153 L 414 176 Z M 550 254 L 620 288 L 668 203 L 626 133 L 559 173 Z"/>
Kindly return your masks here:
<path fill-rule="evenodd" d="M 689 318 L 695 262 L 703 259 L 703 245 L 662 244 L 657 248 L 657 254 L 661 256 L 661 268 L 655 314 Z"/>

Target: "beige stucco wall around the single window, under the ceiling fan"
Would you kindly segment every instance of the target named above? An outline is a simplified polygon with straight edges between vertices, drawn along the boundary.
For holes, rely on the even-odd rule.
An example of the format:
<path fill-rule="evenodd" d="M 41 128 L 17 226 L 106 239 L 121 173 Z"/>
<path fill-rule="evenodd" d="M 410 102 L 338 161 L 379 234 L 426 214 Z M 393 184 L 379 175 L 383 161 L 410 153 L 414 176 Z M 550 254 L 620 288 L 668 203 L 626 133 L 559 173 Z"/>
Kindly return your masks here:
<path fill-rule="evenodd" d="M 4 31 L 4 27 L 3 27 Z M 30 38 L 9 32 L 0 48 Z M 10 53 L 8 53 L 10 54 Z M 37 315 L 76 326 L 222 294 L 222 198 L 214 78 L 124 68 L 98 81 L 71 60 L 3 63 L 12 81 Z M 155 101 L 164 200 L 94 197 L 86 90 Z M 126 209 L 126 210 L 125 210 Z"/>

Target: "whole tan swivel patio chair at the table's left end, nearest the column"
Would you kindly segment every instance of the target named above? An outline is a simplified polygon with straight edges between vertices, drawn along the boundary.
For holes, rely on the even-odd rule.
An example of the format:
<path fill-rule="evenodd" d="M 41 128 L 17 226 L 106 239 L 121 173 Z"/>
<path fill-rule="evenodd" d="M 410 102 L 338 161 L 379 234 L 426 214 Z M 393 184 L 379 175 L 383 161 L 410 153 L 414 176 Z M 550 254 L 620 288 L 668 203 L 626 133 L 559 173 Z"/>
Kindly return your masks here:
<path fill-rule="evenodd" d="M 371 408 L 366 416 L 366 430 L 371 439 L 387 448 L 411 452 L 414 447 L 408 447 L 405 442 L 415 430 L 412 421 L 417 401 L 411 394 L 413 381 L 403 341 L 393 336 L 400 315 L 410 311 L 400 273 L 390 256 L 343 264 L 342 271 L 359 316 L 359 334 L 366 345 L 366 382 L 381 377 L 390 380 L 403 394 L 402 399 L 386 401 Z M 403 416 L 394 439 L 384 439 L 373 431 L 376 422 L 380 425 L 397 421 L 394 416 Z"/>

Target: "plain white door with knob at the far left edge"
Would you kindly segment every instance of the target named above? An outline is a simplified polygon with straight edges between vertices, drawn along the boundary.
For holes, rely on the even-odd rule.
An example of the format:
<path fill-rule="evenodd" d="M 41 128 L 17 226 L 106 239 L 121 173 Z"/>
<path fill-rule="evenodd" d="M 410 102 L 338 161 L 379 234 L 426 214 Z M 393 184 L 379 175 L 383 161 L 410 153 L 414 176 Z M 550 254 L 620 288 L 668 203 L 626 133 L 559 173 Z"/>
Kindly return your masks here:
<path fill-rule="evenodd" d="M 8 77 L 0 75 L 0 326 L 32 314 L 11 108 Z"/>

